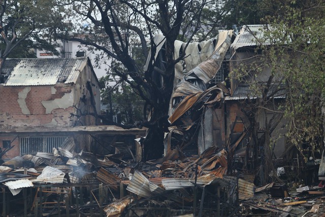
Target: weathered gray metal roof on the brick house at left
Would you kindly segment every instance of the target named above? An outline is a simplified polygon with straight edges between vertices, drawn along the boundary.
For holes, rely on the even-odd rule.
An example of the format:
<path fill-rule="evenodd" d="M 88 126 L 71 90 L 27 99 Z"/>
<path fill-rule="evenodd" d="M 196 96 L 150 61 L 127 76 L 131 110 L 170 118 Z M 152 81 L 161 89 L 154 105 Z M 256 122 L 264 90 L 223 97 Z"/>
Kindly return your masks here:
<path fill-rule="evenodd" d="M 2 73 L 5 86 L 54 85 L 75 83 L 88 58 L 6 59 Z"/>

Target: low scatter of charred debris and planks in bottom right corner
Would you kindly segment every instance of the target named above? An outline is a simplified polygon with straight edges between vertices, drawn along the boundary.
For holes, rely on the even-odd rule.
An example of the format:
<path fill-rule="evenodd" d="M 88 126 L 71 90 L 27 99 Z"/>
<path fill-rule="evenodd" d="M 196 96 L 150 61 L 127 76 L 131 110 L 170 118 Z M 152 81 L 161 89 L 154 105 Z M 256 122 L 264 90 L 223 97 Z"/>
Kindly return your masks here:
<path fill-rule="evenodd" d="M 269 183 L 256 188 L 256 194 L 241 201 L 244 216 L 324 216 L 324 184 L 301 187 L 291 184 Z M 288 185 L 291 185 L 288 189 Z"/>

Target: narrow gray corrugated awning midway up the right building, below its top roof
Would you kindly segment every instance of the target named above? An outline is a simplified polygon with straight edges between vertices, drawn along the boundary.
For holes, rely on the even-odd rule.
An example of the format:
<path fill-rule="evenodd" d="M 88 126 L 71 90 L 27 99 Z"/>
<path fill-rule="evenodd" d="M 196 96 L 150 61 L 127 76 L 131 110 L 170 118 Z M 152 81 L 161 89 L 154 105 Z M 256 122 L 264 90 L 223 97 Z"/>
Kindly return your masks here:
<path fill-rule="evenodd" d="M 274 92 L 275 95 L 272 96 L 274 99 L 283 99 L 285 98 L 285 85 L 284 84 L 271 84 L 270 90 L 269 90 L 269 96 L 270 94 L 273 94 Z M 233 96 L 227 96 L 224 98 L 224 100 L 245 100 L 245 99 L 256 99 L 257 97 L 261 98 L 261 95 L 257 96 L 256 91 L 251 90 L 248 85 L 240 85 L 238 86 L 235 91 Z"/>

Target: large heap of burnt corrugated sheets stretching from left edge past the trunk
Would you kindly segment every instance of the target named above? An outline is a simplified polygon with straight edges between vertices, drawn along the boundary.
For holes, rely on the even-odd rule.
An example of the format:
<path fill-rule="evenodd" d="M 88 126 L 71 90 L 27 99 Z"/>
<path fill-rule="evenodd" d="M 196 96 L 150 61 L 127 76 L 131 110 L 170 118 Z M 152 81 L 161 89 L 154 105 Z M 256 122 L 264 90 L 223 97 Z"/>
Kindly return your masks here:
<path fill-rule="evenodd" d="M 245 199 L 254 194 L 251 179 L 225 175 L 228 166 L 224 149 L 209 147 L 202 154 L 186 157 L 176 148 L 164 158 L 136 163 L 133 159 L 118 159 L 116 154 L 94 157 L 76 153 L 74 147 L 73 140 L 67 139 L 53 153 L 15 158 L 29 162 L 31 168 L 23 169 L 23 163 L 14 169 L 0 166 L 3 191 L 7 188 L 15 195 L 11 197 L 23 198 L 26 191 L 19 193 L 21 190 L 33 189 L 27 191 L 31 200 L 27 210 L 33 213 L 42 210 L 43 214 L 57 215 L 59 210 L 87 215 L 102 209 L 106 216 L 229 215 L 237 211 L 238 197 Z M 107 189 L 101 204 L 100 185 Z M 70 205 L 62 208 L 63 204 Z"/>

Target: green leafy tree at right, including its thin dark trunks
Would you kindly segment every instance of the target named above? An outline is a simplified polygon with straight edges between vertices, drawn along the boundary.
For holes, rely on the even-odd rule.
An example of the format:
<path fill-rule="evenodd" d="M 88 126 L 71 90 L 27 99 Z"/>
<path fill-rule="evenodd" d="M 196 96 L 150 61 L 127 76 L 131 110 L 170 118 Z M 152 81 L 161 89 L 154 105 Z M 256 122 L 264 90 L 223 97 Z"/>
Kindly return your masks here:
<path fill-rule="evenodd" d="M 261 20 L 265 23 L 261 27 L 264 34 L 255 39 L 255 61 L 242 63 L 235 73 L 241 83 L 249 84 L 255 96 L 259 96 L 247 102 L 250 110 L 246 113 L 251 122 L 253 153 L 257 153 L 257 147 L 264 147 L 262 182 L 267 182 L 269 174 L 275 171 L 272 138 L 277 138 L 275 129 L 281 119 L 287 123 L 283 126 L 287 145 L 301 150 L 302 144 L 308 143 L 314 153 L 323 147 L 325 3 L 282 1 L 276 7 L 275 14 Z M 270 69 L 268 74 L 266 69 Z M 264 81 L 258 79 L 262 73 L 268 76 Z M 279 103 L 276 97 L 283 91 L 285 101 Z M 265 116 L 262 135 L 257 134 L 254 118 L 260 113 Z"/>

